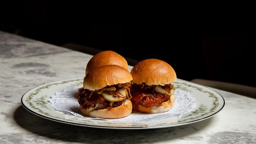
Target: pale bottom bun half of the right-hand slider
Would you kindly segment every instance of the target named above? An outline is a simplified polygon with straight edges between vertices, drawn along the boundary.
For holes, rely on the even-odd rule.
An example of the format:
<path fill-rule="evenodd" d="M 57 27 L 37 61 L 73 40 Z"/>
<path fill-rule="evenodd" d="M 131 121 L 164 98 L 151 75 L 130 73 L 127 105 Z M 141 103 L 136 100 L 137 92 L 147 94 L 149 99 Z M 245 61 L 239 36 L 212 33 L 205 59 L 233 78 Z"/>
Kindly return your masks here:
<path fill-rule="evenodd" d="M 139 104 L 138 110 L 135 109 L 135 104 L 132 102 L 132 107 L 134 110 L 142 112 L 142 113 L 163 113 L 166 111 L 169 111 L 170 109 L 173 108 L 173 105 L 175 103 L 175 98 L 176 96 L 173 94 L 170 98 L 170 100 L 166 102 L 162 102 L 160 105 L 161 106 L 151 106 L 151 107 L 144 107 L 143 105 Z"/>

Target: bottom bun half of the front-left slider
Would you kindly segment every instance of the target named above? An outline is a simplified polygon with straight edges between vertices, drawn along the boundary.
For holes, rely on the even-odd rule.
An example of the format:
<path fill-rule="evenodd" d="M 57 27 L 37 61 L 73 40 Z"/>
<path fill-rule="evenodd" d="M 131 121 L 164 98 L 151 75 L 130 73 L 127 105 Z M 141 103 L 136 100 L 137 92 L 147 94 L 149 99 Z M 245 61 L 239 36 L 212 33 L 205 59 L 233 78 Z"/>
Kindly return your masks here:
<path fill-rule="evenodd" d="M 108 109 L 98 109 L 98 110 L 86 110 L 80 106 L 80 110 L 86 116 L 90 116 L 93 118 L 122 118 L 128 116 L 132 113 L 132 102 L 130 100 L 126 100 L 124 104 L 119 107 L 114 107 L 110 110 Z"/>

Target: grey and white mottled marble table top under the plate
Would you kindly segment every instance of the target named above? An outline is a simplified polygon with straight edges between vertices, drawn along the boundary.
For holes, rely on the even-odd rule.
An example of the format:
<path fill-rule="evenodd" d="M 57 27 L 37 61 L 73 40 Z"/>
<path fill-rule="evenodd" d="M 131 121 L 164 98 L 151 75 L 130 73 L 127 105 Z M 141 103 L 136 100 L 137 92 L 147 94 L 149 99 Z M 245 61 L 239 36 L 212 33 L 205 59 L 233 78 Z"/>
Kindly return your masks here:
<path fill-rule="evenodd" d="M 0 144 L 256 143 L 256 99 L 215 89 L 225 107 L 184 126 L 117 131 L 72 126 L 24 109 L 22 95 L 44 83 L 84 76 L 92 55 L 0 31 Z"/>

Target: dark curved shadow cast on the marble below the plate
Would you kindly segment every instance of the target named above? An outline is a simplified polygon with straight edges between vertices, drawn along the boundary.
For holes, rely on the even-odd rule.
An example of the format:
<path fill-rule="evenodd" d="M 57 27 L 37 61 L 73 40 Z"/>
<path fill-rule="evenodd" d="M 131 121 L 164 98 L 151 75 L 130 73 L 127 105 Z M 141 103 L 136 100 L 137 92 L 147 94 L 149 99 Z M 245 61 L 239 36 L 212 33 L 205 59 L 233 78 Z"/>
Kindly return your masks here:
<path fill-rule="evenodd" d="M 88 143 L 151 143 L 164 142 L 171 139 L 198 140 L 200 137 L 189 137 L 192 133 L 198 133 L 210 125 L 213 118 L 194 124 L 145 130 L 111 130 L 96 129 L 82 126 L 62 124 L 36 116 L 22 106 L 14 113 L 14 119 L 20 127 L 39 136 L 48 137 L 57 141 L 88 142 Z M 45 139 L 45 138 L 43 138 Z M 47 139 L 45 139 L 47 140 Z M 48 141 L 48 140 L 47 140 Z"/>

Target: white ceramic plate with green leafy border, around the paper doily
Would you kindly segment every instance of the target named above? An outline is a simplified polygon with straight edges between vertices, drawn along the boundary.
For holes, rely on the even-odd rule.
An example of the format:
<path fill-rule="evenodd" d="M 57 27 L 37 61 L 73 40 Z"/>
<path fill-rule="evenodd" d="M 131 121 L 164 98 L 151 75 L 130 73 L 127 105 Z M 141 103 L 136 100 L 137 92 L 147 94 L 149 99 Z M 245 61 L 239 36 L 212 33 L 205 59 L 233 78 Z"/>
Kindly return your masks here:
<path fill-rule="evenodd" d="M 210 118 L 214 114 L 218 113 L 224 107 L 225 103 L 223 97 L 214 90 L 202 85 L 178 79 L 176 83 L 173 83 L 174 87 L 176 89 L 190 92 L 190 96 L 196 98 L 197 104 L 194 111 L 183 114 L 182 117 L 178 119 L 165 118 L 160 120 L 148 120 L 143 123 L 109 122 L 106 120 L 90 119 L 81 120 L 76 117 L 70 118 L 70 116 L 67 116 L 62 112 L 55 111 L 55 109 L 50 106 L 51 103 L 48 102 L 48 100 L 51 96 L 55 95 L 55 92 L 62 92 L 64 89 L 69 89 L 79 85 L 82 87 L 82 83 L 83 78 L 46 83 L 26 92 L 21 98 L 21 103 L 31 113 L 49 120 L 78 126 L 106 129 L 153 129 L 191 124 Z"/>

